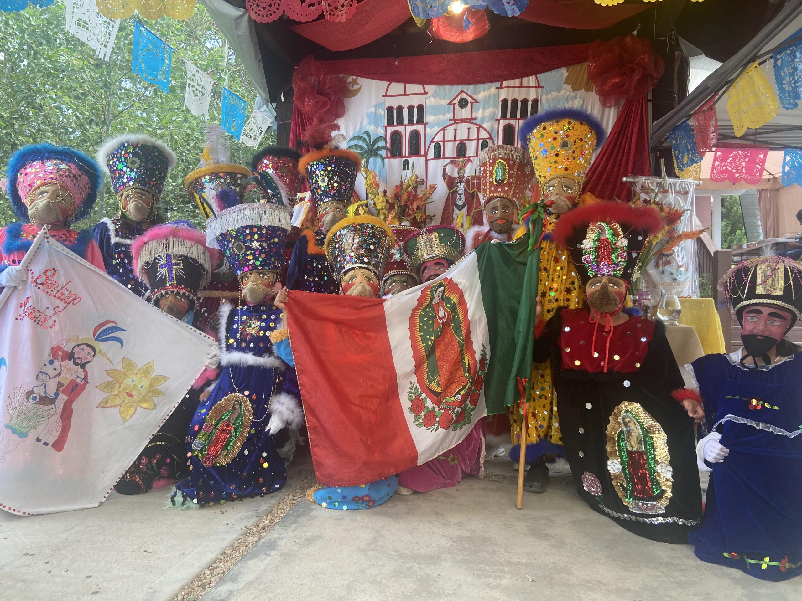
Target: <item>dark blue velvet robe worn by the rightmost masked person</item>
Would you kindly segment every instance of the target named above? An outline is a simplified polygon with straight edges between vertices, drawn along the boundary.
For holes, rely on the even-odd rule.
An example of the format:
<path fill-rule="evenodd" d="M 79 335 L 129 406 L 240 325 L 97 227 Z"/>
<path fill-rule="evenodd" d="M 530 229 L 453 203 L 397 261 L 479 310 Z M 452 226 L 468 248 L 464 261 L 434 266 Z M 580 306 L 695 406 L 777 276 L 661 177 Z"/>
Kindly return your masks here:
<path fill-rule="evenodd" d="M 708 428 L 730 454 L 707 463 L 704 523 L 688 540 L 703 561 L 785 580 L 802 571 L 802 355 L 757 370 L 735 357 L 691 364 Z"/>

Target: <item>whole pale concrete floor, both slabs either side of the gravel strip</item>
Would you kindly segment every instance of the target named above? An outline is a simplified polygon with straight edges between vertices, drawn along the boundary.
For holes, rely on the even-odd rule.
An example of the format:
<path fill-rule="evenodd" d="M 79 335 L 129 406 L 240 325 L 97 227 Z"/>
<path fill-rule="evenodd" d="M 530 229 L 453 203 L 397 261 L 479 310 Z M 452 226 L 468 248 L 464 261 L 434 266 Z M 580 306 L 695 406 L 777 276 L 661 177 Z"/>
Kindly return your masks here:
<path fill-rule="evenodd" d="M 203 599 L 802 601 L 795 580 L 764 583 L 626 532 L 555 468 L 549 491 L 525 494 L 520 511 L 505 458 L 487 464 L 496 478 L 371 510 L 302 499 Z M 0 599 L 173 599 L 309 473 L 298 457 L 282 493 L 221 508 L 168 510 L 156 491 L 111 494 L 92 510 L 0 514 Z"/>

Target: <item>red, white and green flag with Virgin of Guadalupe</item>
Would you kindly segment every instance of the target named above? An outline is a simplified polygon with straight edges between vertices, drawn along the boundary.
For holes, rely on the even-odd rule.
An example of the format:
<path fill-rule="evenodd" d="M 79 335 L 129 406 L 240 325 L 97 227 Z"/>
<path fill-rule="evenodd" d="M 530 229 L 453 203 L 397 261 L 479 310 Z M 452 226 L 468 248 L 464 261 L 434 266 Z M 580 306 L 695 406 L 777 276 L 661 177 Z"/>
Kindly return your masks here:
<path fill-rule="evenodd" d="M 322 485 L 423 464 L 520 397 L 532 363 L 534 312 L 519 312 L 534 309 L 528 244 L 482 244 L 390 299 L 290 292 L 290 345 Z"/>

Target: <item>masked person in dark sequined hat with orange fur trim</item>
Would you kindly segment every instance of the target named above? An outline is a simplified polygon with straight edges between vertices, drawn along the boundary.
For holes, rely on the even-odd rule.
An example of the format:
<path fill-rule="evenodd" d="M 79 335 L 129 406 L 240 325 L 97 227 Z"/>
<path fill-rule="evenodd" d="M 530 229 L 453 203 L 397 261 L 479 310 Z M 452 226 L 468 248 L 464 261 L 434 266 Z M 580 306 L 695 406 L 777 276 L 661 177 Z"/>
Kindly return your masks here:
<path fill-rule="evenodd" d="M 362 159 L 355 152 L 330 147 L 310 152 L 298 163 L 318 213 L 318 230 L 304 230 L 295 244 L 287 267 L 290 290 L 337 294 L 339 282 L 326 260 L 323 244 L 331 228 L 346 217 L 361 165 Z"/>

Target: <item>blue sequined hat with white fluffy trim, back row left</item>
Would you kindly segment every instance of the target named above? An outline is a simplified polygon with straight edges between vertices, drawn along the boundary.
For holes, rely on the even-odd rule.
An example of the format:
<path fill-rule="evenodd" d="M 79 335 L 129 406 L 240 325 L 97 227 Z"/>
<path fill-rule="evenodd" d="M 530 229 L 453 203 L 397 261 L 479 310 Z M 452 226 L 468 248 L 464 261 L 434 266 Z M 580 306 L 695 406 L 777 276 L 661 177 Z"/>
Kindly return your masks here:
<path fill-rule="evenodd" d="M 176 154 L 148 135 L 119 135 L 103 144 L 98 163 L 111 178 L 118 194 L 128 188 L 145 188 L 161 196 L 167 174 L 176 164 Z"/>

